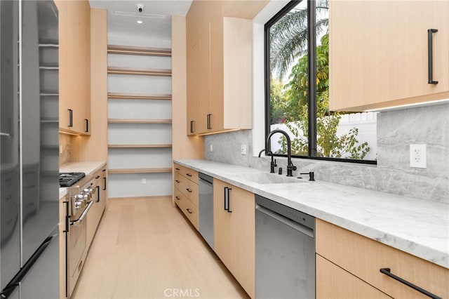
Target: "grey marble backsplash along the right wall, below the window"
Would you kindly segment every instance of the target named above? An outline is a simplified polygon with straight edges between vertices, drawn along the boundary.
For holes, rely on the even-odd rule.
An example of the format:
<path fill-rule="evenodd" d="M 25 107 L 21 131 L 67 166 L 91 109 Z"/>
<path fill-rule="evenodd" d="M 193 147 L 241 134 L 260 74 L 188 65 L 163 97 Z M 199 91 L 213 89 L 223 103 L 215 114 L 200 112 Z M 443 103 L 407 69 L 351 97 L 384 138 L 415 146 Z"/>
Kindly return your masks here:
<path fill-rule="evenodd" d="M 316 180 L 449 204 L 448 115 L 449 104 L 380 112 L 377 165 L 293 159 L 298 168 L 294 174 L 314 171 Z M 250 154 L 252 139 L 251 130 L 205 136 L 204 158 L 269 171 L 270 157 Z M 410 168 L 410 144 L 427 145 L 427 168 Z M 241 145 L 247 145 L 249 154 L 240 153 Z M 286 158 L 276 159 L 286 173 Z"/>

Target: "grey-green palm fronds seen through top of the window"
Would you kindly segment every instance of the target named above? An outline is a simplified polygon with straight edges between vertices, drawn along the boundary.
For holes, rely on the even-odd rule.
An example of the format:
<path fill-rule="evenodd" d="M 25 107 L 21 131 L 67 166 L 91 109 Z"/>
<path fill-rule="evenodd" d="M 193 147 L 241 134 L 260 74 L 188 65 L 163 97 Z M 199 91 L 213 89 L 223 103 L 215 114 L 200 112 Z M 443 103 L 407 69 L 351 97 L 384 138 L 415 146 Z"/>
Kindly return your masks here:
<path fill-rule="evenodd" d="M 305 1 L 305 0 L 303 0 Z M 316 34 L 328 29 L 328 0 L 316 0 Z M 290 65 L 307 52 L 307 9 L 293 8 L 270 29 L 270 64 L 272 74 L 281 79 Z"/>

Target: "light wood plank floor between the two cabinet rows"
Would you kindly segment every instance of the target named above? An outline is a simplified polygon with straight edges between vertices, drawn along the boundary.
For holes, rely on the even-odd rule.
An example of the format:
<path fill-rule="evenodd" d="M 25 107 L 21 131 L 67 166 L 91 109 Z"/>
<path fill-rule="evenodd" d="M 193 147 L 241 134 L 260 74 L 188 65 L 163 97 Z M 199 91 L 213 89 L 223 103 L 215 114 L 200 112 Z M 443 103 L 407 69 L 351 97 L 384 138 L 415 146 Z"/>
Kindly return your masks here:
<path fill-rule="evenodd" d="M 170 198 L 108 201 L 72 299 L 248 298 Z"/>

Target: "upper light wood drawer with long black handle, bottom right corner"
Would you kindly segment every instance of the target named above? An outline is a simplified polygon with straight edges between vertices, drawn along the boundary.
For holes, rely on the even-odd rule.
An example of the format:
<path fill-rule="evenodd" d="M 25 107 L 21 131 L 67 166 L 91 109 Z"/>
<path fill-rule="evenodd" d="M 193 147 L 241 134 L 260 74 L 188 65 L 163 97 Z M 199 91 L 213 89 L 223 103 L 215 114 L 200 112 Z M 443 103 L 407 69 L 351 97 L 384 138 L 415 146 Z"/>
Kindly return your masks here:
<path fill-rule="evenodd" d="M 394 298 L 423 298 L 391 273 L 441 298 L 449 298 L 449 270 L 342 227 L 316 219 L 316 253 Z M 349 286 L 348 286 L 349 287 Z"/>

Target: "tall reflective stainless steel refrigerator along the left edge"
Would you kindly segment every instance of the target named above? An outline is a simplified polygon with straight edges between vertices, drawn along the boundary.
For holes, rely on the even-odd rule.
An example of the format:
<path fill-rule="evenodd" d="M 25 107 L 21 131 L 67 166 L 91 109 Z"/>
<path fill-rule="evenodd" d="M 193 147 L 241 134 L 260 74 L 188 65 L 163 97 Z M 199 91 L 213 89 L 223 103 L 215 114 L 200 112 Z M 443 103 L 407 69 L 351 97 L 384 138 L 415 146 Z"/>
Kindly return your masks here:
<path fill-rule="evenodd" d="M 58 10 L 0 1 L 1 298 L 59 298 Z"/>

